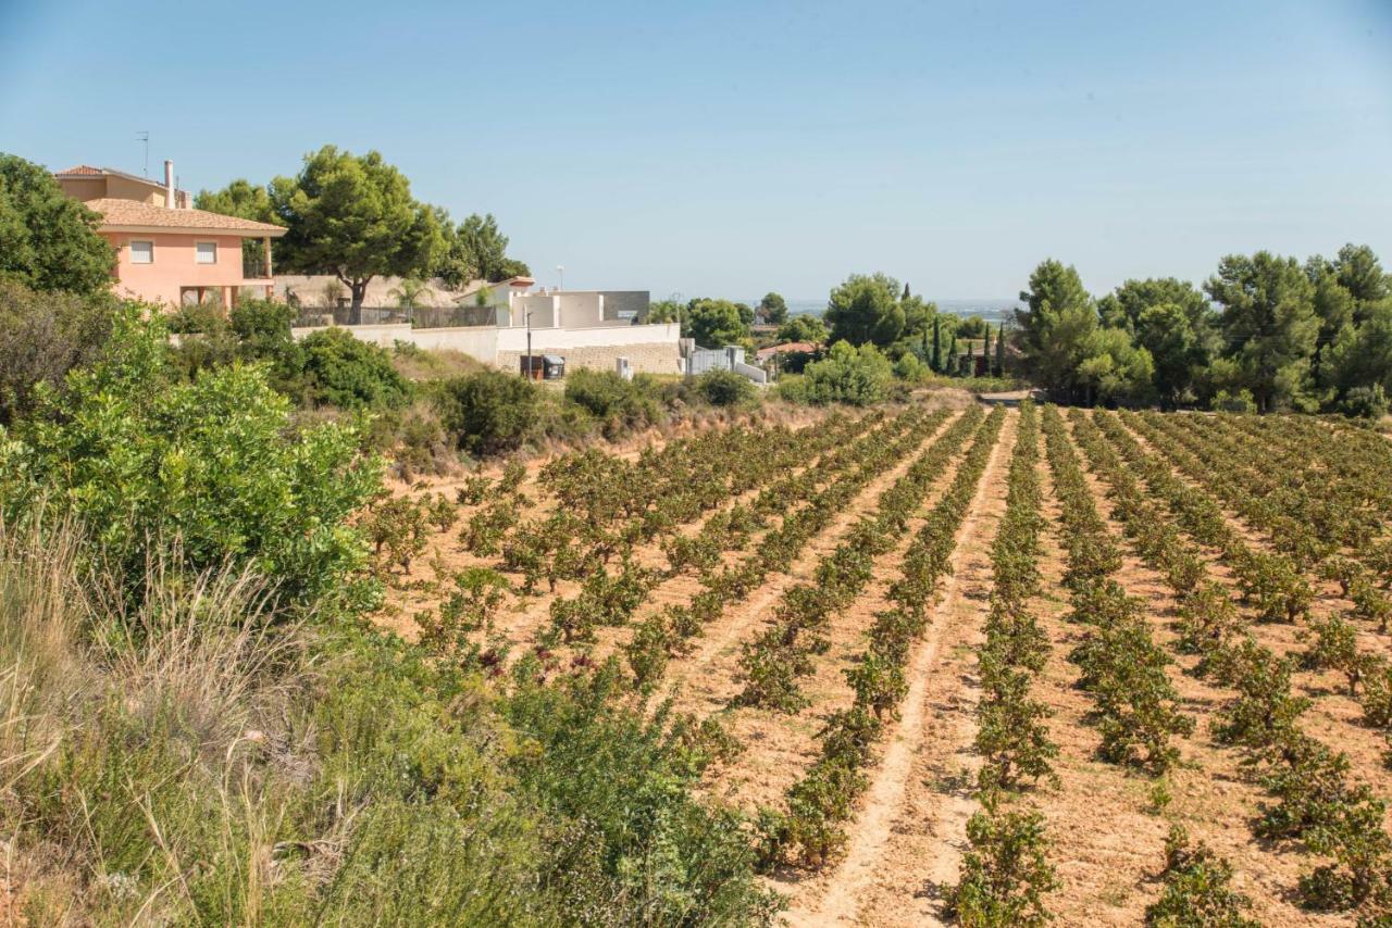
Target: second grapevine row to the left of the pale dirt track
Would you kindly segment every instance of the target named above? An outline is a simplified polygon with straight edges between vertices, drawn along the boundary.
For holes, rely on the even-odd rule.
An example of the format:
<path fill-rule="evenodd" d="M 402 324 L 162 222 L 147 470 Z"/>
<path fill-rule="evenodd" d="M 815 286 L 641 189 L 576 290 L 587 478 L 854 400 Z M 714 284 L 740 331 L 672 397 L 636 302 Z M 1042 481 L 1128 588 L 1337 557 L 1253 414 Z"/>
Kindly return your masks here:
<path fill-rule="evenodd" d="M 813 655 L 827 650 L 823 632 L 831 616 L 860 595 L 870 582 L 876 558 L 898 544 L 928 486 L 981 419 L 981 410 L 973 408 L 952 423 L 894 486 L 880 494 L 874 509 L 856 522 L 845 540 L 821 558 L 812 579 L 784 593 L 774 608 L 774 623 L 743 646 L 741 705 L 780 712 L 796 712 L 807 705 L 798 678 L 810 673 Z"/>

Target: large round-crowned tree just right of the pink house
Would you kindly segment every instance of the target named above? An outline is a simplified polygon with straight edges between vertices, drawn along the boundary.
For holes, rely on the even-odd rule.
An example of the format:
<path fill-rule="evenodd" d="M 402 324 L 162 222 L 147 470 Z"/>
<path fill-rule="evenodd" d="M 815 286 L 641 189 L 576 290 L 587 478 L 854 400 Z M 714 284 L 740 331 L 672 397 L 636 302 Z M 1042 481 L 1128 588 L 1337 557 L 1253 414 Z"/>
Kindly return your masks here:
<path fill-rule="evenodd" d="M 411 195 L 411 182 L 377 152 L 355 156 L 326 145 L 294 178 L 271 181 L 285 270 L 334 274 L 362 306 L 377 275 L 427 274 L 443 245 L 436 210 Z"/>

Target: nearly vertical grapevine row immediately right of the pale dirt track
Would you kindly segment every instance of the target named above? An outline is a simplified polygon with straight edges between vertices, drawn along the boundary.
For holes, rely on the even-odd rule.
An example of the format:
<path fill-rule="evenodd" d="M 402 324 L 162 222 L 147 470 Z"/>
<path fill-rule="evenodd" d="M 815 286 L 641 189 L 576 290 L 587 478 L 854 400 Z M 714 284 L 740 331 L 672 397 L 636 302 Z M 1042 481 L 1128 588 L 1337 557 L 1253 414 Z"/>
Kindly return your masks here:
<path fill-rule="evenodd" d="M 1057 781 L 1051 761 L 1050 708 L 1030 697 L 1044 669 L 1050 643 L 1030 611 L 1040 593 L 1038 416 L 1020 408 L 1019 431 L 995 541 L 991 545 L 991 602 L 986 643 L 977 650 L 981 700 L 977 703 L 977 789 L 981 810 L 967 822 L 969 849 L 948 904 L 967 928 L 1041 925 L 1050 920 L 1044 896 L 1059 888 L 1048 863 L 1044 817 L 1008 807 L 1006 790 L 1041 778 Z"/>

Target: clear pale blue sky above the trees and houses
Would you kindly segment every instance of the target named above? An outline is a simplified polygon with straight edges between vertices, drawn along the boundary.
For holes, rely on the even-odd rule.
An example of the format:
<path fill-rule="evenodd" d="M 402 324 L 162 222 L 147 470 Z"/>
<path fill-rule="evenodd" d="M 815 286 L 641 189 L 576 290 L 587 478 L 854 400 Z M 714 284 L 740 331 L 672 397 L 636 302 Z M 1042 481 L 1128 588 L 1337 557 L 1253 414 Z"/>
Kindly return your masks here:
<path fill-rule="evenodd" d="M 1392 263 L 1392 0 L 0 0 L 0 150 L 189 189 L 376 147 L 541 282 L 1013 296 Z"/>

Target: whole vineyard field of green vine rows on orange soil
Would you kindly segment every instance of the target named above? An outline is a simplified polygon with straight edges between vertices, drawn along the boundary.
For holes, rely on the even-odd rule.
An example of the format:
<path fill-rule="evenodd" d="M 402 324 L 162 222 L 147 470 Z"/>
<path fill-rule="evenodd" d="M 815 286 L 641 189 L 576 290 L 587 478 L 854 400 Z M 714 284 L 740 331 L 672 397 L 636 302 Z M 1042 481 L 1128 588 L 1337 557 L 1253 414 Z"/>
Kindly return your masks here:
<path fill-rule="evenodd" d="M 792 925 L 1392 924 L 1392 442 L 903 405 L 397 487 L 379 622 L 608 676 Z"/>

